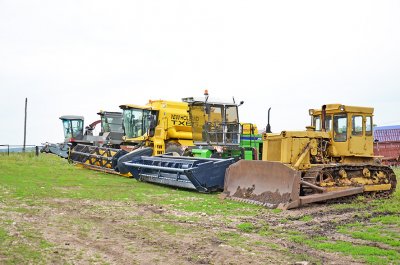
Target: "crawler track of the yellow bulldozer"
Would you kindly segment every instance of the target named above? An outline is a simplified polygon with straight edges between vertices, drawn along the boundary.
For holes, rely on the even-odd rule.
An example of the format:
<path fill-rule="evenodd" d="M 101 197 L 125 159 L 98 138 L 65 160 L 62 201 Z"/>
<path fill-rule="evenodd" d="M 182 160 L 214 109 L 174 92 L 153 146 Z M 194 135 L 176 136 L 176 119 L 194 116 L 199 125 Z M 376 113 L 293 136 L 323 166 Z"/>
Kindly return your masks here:
<path fill-rule="evenodd" d="M 319 178 L 321 176 L 330 175 L 335 181 L 337 181 L 340 178 L 339 171 L 345 170 L 350 174 L 349 179 L 351 179 L 352 174 L 354 175 L 357 172 L 361 172 L 362 174 L 362 170 L 364 168 L 368 168 L 371 172 L 378 172 L 378 171 L 384 172 L 385 175 L 387 176 L 386 179 L 388 180 L 388 183 L 391 184 L 390 190 L 364 192 L 364 194 L 368 194 L 368 196 L 374 198 L 386 198 L 389 197 L 396 190 L 396 185 L 397 185 L 396 175 L 390 167 L 384 165 L 371 165 L 371 164 L 320 165 L 312 167 L 307 172 L 305 172 L 302 179 L 314 185 L 318 185 Z"/>

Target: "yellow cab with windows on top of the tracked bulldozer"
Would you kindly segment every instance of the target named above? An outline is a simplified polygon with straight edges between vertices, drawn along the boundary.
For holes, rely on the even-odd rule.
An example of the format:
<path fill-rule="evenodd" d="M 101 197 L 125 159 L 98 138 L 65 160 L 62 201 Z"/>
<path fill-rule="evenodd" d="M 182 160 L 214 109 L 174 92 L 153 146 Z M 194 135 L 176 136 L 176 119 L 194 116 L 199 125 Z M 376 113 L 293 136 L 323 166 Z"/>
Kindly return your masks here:
<path fill-rule="evenodd" d="M 311 109 L 312 127 L 329 132 L 333 156 L 373 156 L 373 108 L 324 105 Z"/>

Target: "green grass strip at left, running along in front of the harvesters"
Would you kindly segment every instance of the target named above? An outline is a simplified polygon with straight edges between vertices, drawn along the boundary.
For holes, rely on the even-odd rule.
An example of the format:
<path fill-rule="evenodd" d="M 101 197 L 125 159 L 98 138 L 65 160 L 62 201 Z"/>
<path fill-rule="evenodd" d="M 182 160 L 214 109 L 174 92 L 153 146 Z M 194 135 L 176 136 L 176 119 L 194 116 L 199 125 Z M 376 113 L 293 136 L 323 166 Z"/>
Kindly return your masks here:
<path fill-rule="evenodd" d="M 72 198 L 159 204 L 208 215 L 254 216 L 263 211 L 255 205 L 221 200 L 216 193 L 201 194 L 73 167 L 53 155 L 1 156 L 0 168 L 1 188 L 8 191 L 5 196 L 33 204 L 37 199 Z"/>

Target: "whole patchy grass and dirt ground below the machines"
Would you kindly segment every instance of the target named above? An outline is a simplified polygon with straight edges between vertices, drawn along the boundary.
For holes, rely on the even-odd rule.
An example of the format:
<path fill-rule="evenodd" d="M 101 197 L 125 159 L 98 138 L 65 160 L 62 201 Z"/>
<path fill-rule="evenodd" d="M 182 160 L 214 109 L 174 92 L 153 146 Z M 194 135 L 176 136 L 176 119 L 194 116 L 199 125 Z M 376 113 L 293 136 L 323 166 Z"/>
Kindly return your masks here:
<path fill-rule="evenodd" d="M 270 210 L 0 155 L 0 264 L 398 264 L 399 202 Z"/>

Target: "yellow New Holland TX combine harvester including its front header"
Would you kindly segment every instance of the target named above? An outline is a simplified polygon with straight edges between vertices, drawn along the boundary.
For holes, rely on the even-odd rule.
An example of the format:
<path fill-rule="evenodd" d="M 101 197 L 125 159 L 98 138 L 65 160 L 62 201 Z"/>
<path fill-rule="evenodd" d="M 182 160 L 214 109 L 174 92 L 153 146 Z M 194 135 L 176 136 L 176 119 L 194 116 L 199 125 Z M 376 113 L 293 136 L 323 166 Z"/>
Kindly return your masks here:
<path fill-rule="evenodd" d="M 70 154 L 74 163 L 130 176 L 122 162 L 142 155 L 182 154 L 193 145 L 187 103 L 150 100 L 144 106 L 125 104 L 120 108 L 125 134 L 121 149 L 78 145 Z"/>

